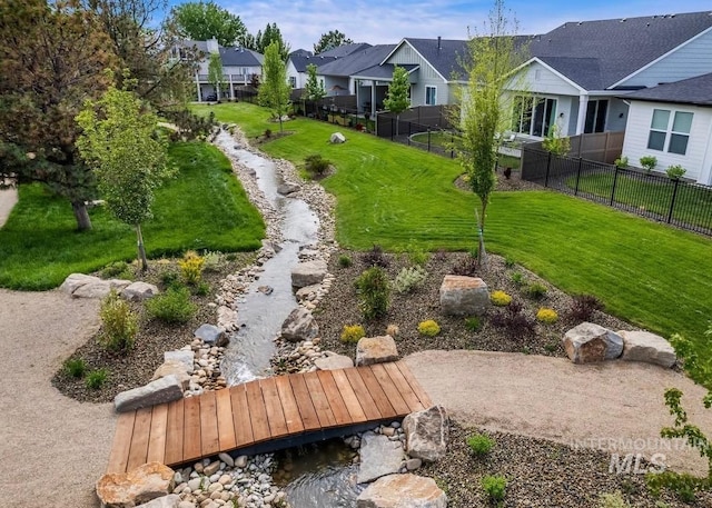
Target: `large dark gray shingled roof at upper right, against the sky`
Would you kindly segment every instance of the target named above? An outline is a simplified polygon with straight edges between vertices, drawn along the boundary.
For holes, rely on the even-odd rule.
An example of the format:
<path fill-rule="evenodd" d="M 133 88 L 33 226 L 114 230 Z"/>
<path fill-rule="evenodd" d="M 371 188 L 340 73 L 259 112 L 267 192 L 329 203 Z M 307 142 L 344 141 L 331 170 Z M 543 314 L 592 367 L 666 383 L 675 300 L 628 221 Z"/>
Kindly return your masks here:
<path fill-rule="evenodd" d="M 530 51 L 584 89 L 604 90 L 710 27 L 710 12 L 566 22 L 533 38 Z"/>

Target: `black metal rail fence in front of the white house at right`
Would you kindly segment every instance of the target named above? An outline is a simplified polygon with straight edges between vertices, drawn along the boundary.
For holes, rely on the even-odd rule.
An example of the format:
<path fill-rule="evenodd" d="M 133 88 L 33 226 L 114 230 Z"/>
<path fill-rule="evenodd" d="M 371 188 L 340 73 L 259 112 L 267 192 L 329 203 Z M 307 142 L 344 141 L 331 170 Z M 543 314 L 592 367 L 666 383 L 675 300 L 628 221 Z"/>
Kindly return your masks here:
<path fill-rule="evenodd" d="M 712 236 L 712 188 L 525 145 L 522 179 Z"/>

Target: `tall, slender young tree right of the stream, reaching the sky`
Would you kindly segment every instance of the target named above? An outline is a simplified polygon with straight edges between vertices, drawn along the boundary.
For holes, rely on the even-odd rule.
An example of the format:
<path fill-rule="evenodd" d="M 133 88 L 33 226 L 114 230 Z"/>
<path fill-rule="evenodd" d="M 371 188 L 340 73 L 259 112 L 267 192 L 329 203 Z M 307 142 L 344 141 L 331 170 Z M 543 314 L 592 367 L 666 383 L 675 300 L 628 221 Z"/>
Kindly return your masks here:
<path fill-rule="evenodd" d="M 462 60 L 467 83 L 459 90 L 459 110 L 453 121 L 461 132 L 455 142 L 457 158 L 479 198 L 477 263 L 485 261 L 484 228 L 490 195 L 495 188 L 495 166 L 502 132 L 511 127 L 512 104 L 507 89 L 516 80 L 514 70 L 524 62 L 526 48 L 517 44 L 516 20 L 507 19 L 503 0 L 495 0 L 485 33 L 471 37 Z M 514 87 L 521 88 L 521 87 Z"/>

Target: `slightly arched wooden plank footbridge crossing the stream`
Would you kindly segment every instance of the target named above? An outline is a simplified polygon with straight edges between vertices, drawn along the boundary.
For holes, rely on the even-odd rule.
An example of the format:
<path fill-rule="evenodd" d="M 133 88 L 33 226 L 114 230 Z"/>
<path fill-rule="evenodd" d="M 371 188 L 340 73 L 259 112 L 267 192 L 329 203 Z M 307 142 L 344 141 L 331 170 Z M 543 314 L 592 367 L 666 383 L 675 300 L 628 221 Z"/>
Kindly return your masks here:
<path fill-rule="evenodd" d="M 108 472 L 274 451 L 429 407 L 404 362 L 277 376 L 119 415 Z"/>

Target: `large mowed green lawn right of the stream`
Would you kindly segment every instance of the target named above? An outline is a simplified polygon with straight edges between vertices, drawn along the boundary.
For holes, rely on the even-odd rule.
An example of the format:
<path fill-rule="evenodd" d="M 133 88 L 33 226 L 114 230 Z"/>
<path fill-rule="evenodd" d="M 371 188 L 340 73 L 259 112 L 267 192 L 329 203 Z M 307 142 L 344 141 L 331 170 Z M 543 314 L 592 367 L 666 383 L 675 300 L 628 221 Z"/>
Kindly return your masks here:
<path fill-rule="evenodd" d="M 250 129 L 255 118 L 266 118 L 260 108 L 237 106 L 233 113 L 234 104 L 225 104 L 229 116 L 218 118 L 238 123 L 249 118 Z M 319 121 L 297 119 L 285 129 L 293 135 L 260 149 L 297 165 L 309 153 L 335 163 L 336 173 L 323 185 L 337 197 L 344 247 L 469 250 L 475 245 L 477 200 L 453 185 L 461 172 L 456 161 L 348 129 L 346 143 L 329 145 L 335 128 Z M 709 238 L 552 191 L 495 192 L 485 238 L 488 250 L 566 292 L 595 295 L 607 311 L 635 325 L 703 343 L 712 307 Z M 706 346 L 704 352 L 712 357 Z"/>

